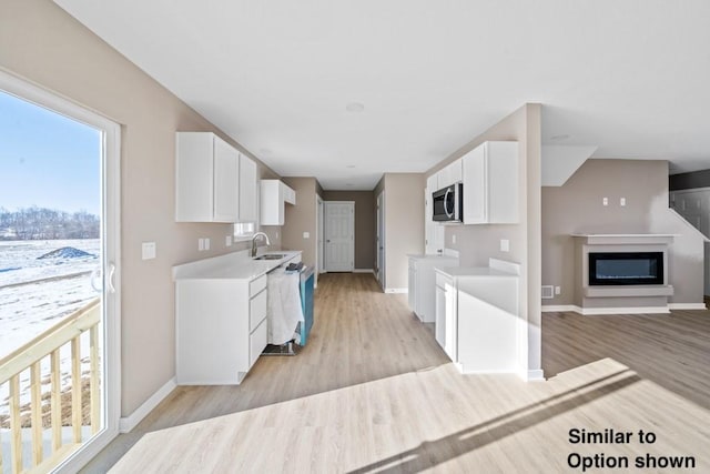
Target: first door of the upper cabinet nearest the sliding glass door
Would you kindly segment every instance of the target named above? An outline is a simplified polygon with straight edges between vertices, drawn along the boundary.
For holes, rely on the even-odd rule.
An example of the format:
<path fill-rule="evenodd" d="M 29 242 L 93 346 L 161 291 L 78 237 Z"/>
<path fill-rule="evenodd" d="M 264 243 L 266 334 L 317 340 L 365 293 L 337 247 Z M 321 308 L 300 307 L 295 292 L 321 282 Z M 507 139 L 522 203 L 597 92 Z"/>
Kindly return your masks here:
<path fill-rule="evenodd" d="M 214 220 L 236 222 L 239 214 L 240 154 L 219 137 L 214 138 Z"/>

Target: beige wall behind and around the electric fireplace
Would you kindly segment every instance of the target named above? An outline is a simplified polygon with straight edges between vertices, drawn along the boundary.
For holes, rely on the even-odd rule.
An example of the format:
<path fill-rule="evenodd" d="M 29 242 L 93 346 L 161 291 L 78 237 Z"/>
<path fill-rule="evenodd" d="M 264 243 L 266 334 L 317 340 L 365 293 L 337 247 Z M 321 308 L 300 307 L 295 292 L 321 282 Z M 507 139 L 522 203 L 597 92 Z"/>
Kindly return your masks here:
<path fill-rule="evenodd" d="M 588 160 L 565 185 L 542 188 L 542 284 L 561 286 L 545 304 L 575 304 L 572 233 L 677 234 L 669 253 L 676 292 L 670 301 L 702 303 L 702 238 L 668 209 L 666 161 Z"/>

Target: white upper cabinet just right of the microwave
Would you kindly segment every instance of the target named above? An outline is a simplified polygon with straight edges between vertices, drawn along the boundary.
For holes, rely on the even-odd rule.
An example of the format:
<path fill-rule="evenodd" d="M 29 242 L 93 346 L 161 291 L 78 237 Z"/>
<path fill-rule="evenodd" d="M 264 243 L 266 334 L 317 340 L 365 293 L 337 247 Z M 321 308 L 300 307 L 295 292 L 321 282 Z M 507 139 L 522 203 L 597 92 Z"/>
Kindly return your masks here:
<path fill-rule="evenodd" d="M 518 142 L 485 142 L 463 164 L 464 223 L 518 222 Z"/>

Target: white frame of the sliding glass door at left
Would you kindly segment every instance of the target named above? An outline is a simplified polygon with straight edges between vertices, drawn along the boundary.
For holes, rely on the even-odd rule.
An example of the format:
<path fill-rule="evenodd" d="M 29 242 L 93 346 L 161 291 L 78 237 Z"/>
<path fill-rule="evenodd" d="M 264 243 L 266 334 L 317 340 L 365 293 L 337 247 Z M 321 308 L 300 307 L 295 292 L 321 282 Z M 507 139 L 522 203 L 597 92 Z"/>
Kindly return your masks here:
<path fill-rule="evenodd" d="M 0 89 L 51 112 L 102 131 L 101 235 L 104 248 L 103 343 L 104 427 L 54 472 L 77 472 L 119 434 L 121 417 L 121 125 L 48 89 L 0 69 Z M 111 268 L 111 271 L 109 269 Z"/>

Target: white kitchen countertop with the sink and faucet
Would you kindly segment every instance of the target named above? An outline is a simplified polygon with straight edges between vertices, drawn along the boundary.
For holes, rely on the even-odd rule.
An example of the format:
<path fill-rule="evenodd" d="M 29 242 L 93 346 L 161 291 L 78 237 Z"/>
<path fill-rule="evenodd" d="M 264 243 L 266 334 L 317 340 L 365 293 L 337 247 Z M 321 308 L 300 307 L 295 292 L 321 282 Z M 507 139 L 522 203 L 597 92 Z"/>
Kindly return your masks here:
<path fill-rule="evenodd" d="M 300 250 L 275 250 L 263 254 L 283 254 L 280 260 L 253 260 L 248 251 L 197 260 L 173 266 L 173 280 L 254 280 L 301 254 Z M 260 254 L 262 255 L 262 254 Z"/>

